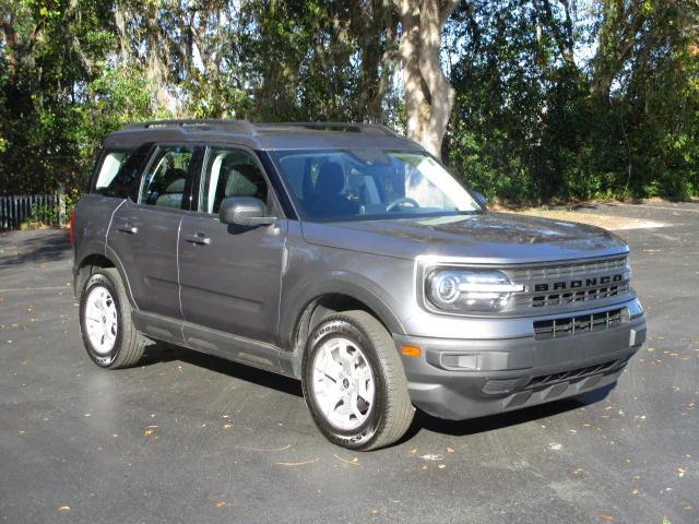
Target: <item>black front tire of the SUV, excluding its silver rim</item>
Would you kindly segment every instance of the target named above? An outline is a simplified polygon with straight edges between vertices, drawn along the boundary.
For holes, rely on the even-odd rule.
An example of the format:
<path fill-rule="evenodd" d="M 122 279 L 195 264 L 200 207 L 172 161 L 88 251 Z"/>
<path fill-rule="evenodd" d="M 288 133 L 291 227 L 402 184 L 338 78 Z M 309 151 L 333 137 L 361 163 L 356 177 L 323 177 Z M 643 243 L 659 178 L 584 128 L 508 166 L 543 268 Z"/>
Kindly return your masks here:
<path fill-rule="evenodd" d="M 313 391 L 316 355 L 327 342 L 339 337 L 360 348 L 375 383 L 374 403 L 366 420 L 350 430 L 340 429 L 328 419 Z M 318 429 L 331 442 L 351 450 L 369 451 L 391 445 L 405 434 L 415 413 L 395 343 L 383 325 L 365 311 L 332 314 L 313 330 L 304 354 L 301 385 Z"/>

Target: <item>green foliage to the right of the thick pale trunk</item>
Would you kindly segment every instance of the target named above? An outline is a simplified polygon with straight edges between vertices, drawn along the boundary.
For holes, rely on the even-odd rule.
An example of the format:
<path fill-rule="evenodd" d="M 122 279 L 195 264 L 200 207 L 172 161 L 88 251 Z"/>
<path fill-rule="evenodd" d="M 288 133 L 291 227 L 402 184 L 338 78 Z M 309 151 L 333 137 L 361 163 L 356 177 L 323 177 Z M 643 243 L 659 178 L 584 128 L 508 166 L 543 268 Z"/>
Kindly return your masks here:
<path fill-rule="evenodd" d="M 457 13 L 448 162 L 491 199 L 698 194 L 697 8 L 600 1 L 574 19 L 546 3 Z M 591 59 L 566 60 L 568 17 L 570 41 L 600 44 Z"/>

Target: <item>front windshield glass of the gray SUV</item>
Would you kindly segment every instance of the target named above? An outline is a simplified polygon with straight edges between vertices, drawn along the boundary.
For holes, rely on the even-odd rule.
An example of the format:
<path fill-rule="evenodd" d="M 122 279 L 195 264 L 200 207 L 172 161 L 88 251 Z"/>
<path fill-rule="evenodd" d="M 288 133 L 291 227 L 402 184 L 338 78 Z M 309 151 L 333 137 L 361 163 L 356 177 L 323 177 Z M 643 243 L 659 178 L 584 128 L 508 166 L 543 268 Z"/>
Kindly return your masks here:
<path fill-rule="evenodd" d="M 277 151 L 272 157 L 307 219 L 404 218 L 482 211 L 473 196 L 425 153 Z"/>

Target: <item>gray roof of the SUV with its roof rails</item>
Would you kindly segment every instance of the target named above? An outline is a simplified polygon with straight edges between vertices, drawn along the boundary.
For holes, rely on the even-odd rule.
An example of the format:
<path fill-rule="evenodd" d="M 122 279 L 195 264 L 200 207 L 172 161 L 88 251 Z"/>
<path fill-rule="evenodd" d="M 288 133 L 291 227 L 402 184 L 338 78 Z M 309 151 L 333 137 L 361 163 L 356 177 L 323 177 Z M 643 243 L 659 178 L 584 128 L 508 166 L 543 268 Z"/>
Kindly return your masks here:
<path fill-rule="evenodd" d="M 146 142 L 238 143 L 253 150 L 381 147 L 422 150 L 386 126 L 355 122 L 251 123 L 247 120 L 156 120 L 116 131 L 105 147 L 137 147 Z"/>

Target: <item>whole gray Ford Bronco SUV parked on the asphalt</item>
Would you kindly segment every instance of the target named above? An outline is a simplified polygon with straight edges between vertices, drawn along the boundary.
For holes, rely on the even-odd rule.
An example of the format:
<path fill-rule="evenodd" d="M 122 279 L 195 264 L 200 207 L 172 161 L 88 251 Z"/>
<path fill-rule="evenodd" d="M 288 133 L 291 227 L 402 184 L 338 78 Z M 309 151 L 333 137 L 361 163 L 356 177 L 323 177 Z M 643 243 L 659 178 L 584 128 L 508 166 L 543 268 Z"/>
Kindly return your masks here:
<path fill-rule="evenodd" d="M 166 341 L 300 379 L 351 449 L 398 441 L 413 406 L 467 419 L 608 389 L 645 340 L 623 240 L 488 212 L 380 126 L 130 126 L 71 238 L 95 364 Z"/>

